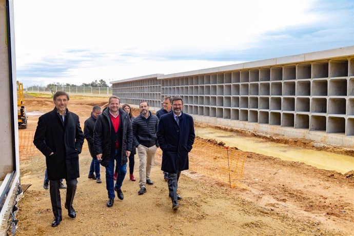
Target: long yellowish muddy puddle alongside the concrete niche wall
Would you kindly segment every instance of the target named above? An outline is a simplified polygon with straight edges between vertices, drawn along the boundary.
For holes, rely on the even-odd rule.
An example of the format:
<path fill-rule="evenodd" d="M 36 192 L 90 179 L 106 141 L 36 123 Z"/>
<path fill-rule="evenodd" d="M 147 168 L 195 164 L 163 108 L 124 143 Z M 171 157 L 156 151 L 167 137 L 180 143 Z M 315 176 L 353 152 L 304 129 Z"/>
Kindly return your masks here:
<path fill-rule="evenodd" d="M 203 139 L 222 141 L 227 146 L 237 147 L 243 151 L 273 156 L 286 161 L 303 162 L 320 169 L 335 170 L 340 173 L 354 170 L 354 158 L 352 156 L 272 143 L 257 137 L 239 136 L 237 133 L 218 129 L 194 128 L 195 134 Z"/>

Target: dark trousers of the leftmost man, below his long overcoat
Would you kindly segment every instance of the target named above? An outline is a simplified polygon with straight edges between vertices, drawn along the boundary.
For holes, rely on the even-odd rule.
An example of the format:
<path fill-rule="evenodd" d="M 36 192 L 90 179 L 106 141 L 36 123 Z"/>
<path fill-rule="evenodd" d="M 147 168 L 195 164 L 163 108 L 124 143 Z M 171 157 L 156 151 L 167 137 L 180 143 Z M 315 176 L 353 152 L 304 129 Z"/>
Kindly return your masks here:
<path fill-rule="evenodd" d="M 60 198 L 59 191 L 59 180 L 50 180 L 49 181 L 49 192 L 50 192 L 50 201 L 52 203 L 52 210 L 55 218 L 62 216 L 62 202 Z M 74 196 L 76 192 L 77 179 L 66 180 L 66 199 L 65 204 L 68 209 L 72 207 L 72 202 L 74 201 Z"/>

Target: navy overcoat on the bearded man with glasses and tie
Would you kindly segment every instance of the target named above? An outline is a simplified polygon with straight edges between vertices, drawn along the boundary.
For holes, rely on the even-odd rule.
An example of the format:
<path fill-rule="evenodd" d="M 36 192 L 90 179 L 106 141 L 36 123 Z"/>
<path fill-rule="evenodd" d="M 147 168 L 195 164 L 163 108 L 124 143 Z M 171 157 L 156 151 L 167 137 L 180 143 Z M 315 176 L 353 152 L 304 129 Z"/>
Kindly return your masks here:
<path fill-rule="evenodd" d="M 162 115 L 157 135 L 162 149 L 161 170 L 168 173 L 187 170 L 188 152 L 192 150 L 195 137 L 192 116 L 182 113 L 178 125 L 173 112 Z"/>

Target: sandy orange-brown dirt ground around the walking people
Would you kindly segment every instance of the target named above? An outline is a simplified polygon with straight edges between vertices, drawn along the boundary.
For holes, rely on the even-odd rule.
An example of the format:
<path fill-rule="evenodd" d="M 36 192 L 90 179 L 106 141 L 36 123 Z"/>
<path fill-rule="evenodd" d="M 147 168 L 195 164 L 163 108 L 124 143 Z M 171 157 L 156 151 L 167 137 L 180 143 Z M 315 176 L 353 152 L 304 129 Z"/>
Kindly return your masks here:
<path fill-rule="evenodd" d="M 107 97 L 72 96 L 68 108 L 80 116 L 83 127 L 92 106 L 106 103 Z M 27 96 L 26 108 L 29 112 L 47 112 L 53 109 L 53 103 L 48 96 Z M 19 135 L 33 132 L 37 120 L 38 115 L 30 116 L 28 128 L 19 130 Z M 31 136 L 28 139 L 31 141 Z M 304 143 L 299 142 L 289 144 Z M 102 184 L 87 179 L 91 157 L 85 142 L 73 204 L 77 217 L 70 219 L 63 207 L 63 221 L 55 228 L 50 226 L 53 214 L 49 191 L 43 189 L 45 159 L 34 152 L 22 155 L 21 184 L 30 187 L 18 203 L 17 235 L 354 235 L 353 178 L 303 163 L 232 151 L 245 157 L 236 188 L 229 188 L 227 182 L 212 174 L 224 171 L 216 166 L 224 161 L 217 153 L 225 152 L 225 147 L 198 139 L 190 155 L 190 171 L 184 171 L 179 182 L 183 200 L 178 210 L 171 209 L 160 170 L 160 149 L 151 174 L 154 185 L 138 195 L 139 184 L 126 176 L 124 200 L 116 198 L 113 207 L 107 208 L 105 169 L 101 168 Z M 138 165 L 135 155 L 137 179 Z M 65 190 L 61 192 L 64 200 Z"/>

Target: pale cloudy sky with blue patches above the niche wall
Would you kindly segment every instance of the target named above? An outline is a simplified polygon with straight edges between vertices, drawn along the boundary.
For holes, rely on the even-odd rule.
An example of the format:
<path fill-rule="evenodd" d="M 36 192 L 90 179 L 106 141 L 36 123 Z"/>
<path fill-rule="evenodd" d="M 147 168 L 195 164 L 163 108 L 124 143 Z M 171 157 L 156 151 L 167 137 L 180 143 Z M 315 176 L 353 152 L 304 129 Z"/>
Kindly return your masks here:
<path fill-rule="evenodd" d="M 354 45 L 352 0 L 14 0 L 26 86 L 257 61 Z"/>

